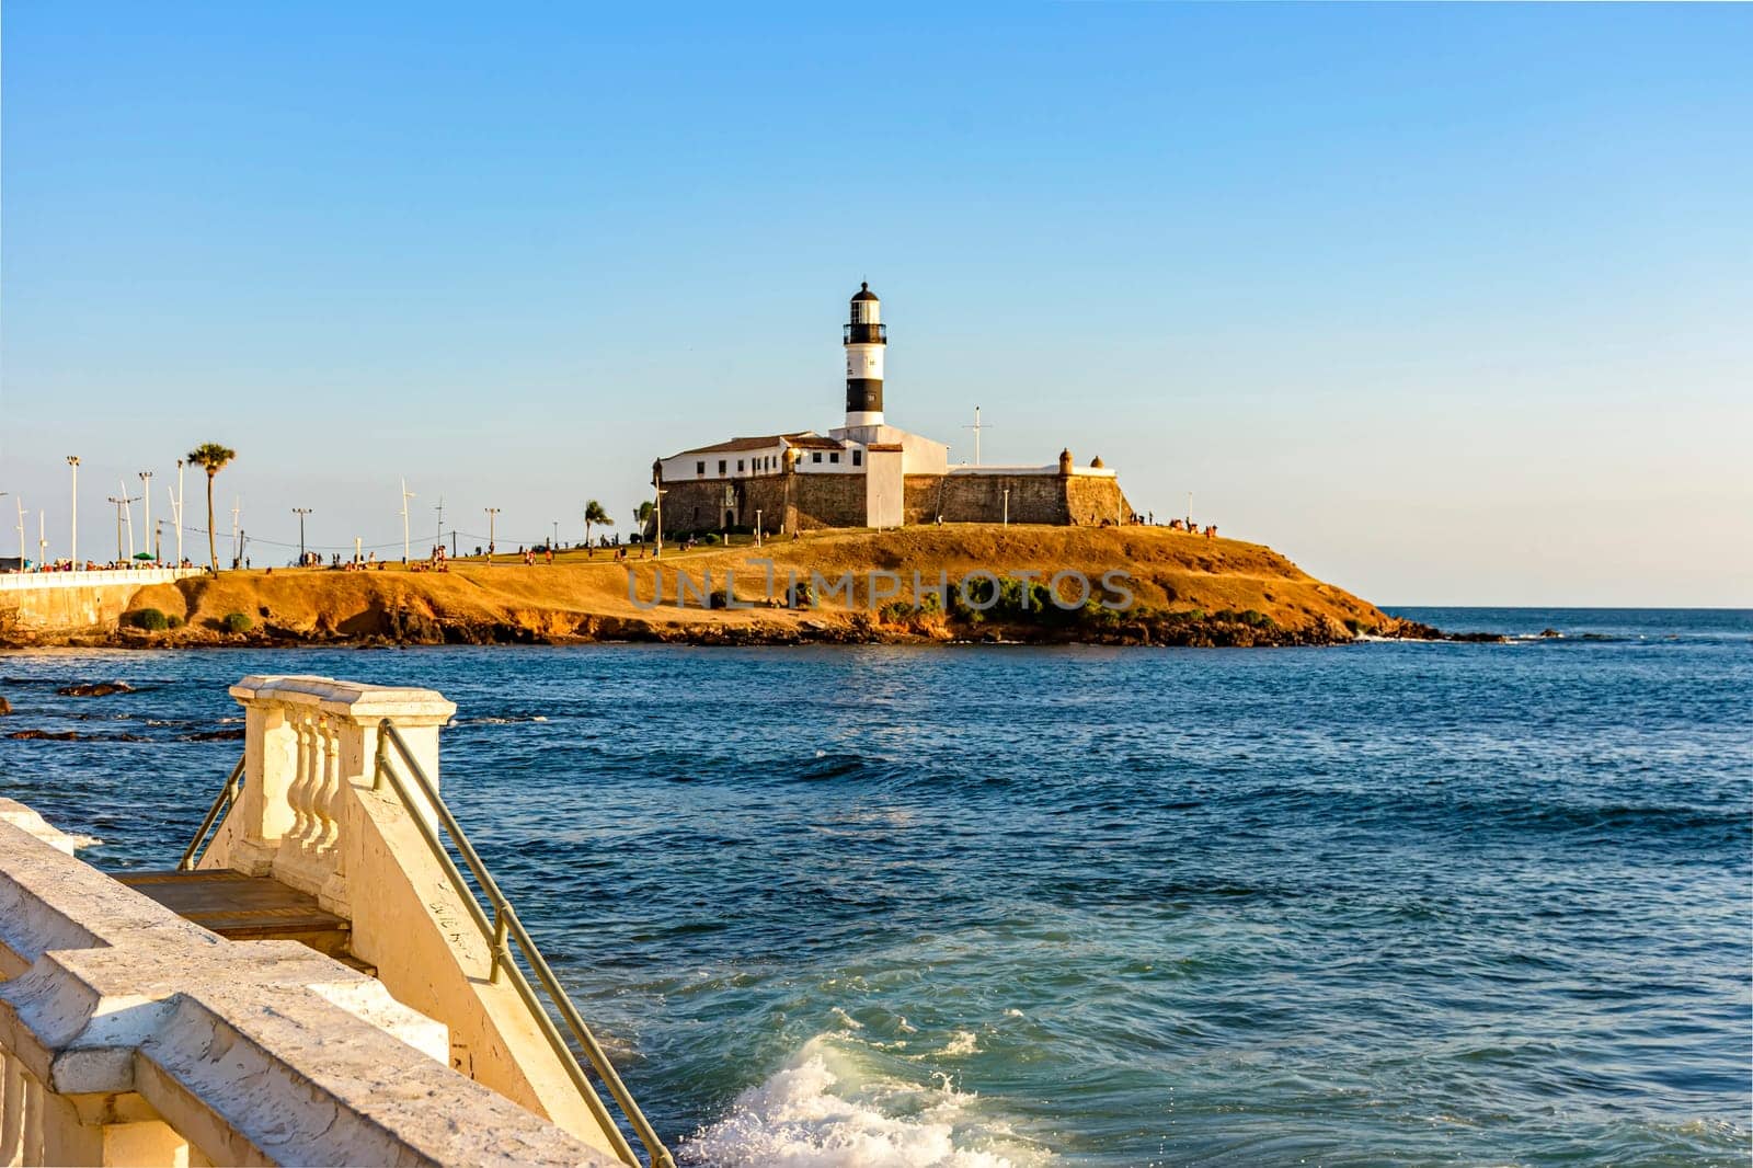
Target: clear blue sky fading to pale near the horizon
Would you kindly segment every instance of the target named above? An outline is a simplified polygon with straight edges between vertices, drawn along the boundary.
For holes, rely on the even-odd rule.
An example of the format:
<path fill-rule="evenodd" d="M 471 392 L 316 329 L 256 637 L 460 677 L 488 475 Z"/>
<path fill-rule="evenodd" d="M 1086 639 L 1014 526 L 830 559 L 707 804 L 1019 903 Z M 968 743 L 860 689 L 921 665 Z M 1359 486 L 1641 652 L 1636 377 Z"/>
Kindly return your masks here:
<path fill-rule="evenodd" d="M 1101 454 L 1381 603 L 1753 603 L 1746 7 L 5 16 L 51 554 L 65 454 L 93 554 L 202 440 L 258 565 L 300 505 L 400 542 L 400 475 L 417 530 L 624 528 L 656 454 L 838 424 L 868 279 L 952 458 L 978 403 L 985 461 Z"/>

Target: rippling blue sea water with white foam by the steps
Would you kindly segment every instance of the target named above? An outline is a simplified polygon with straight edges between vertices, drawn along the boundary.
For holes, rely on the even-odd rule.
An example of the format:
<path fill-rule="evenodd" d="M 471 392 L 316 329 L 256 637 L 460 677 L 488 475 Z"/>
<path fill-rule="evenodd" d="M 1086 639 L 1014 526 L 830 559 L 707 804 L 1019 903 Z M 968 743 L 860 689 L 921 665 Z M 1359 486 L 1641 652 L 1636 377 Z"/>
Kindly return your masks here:
<path fill-rule="evenodd" d="M 0 794 L 168 866 L 226 684 L 444 691 L 692 1163 L 1746 1164 L 1753 612 L 1401 614 L 1529 640 L 5 654 Z"/>

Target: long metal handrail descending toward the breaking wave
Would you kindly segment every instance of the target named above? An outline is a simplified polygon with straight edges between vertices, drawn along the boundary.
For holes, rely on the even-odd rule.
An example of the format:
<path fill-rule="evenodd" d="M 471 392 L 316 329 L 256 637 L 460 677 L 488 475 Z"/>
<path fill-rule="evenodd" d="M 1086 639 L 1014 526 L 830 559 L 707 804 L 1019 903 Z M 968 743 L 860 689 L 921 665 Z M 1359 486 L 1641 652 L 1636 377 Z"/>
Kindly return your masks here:
<path fill-rule="evenodd" d="M 657 1138 L 657 1131 L 650 1126 L 650 1121 L 645 1119 L 645 1114 L 640 1112 L 638 1103 L 633 1101 L 633 1094 L 628 1091 L 626 1084 L 621 1082 L 621 1075 L 615 1073 L 615 1066 L 608 1061 L 608 1054 L 605 1054 L 603 1047 L 598 1045 L 596 1036 L 578 1014 L 578 1008 L 571 1003 L 571 998 L 566 996 L 566 991 L 561 987 L 559 979 L 554 977 L 554 970 L 549 966 L 547 958 L 542 956 L 542 951 L 536 949 L 535 938 L 529 937 L 522 921 L 517 919 L 517 910 L 514 910 L 510 901 L 505 900 L 505 893 L 500 891 L 493 873 L 487 872 L 487 865 L 482 863 L 480 854 L 468 842 L 468 837 L 463 835 L 463 826 L 456 821 L 456 815 L 451 814 L 451 808 L 445 807 L 444 800 L 438 798 L 436 787 L 431 779 L 428 779 L 426 770 L 419 765 L 419 761 L 415 761 L 414 752 L 401 737 L 401 731 L 398 731 L 394 723 L 387 717 L 377 724 L 377 765 L 372 775 L 372 789 L 380 789 L 382 780 L 389 779 L 389 786 L 394 787 L 403 807 L 408 808 L 408 814 L 419 828 L 421 837 L 426 840 L 426 845 L 445 868 L 445 873 L 451 877 L 451 884 L 468 907 L 468 914 L 475 921 L 475 928 L 480 929 L 482 938 L 493 951 L 493 966 L 487 972 L 487 980 L 498 982 L 501 973 L 510 977 L 512 987 L 529 1008 L 529 1015 L 535 1019 L 542 1035 L 554 1049 L 554 1054 L 566 1068 L 566 1075 L 578 1089 L 578 1094 L 584 1098 L 603 1131 L 608 1133 L 615 1154 L 622 1159 L 622 1163 L 638 1164 L 633 1147 L 628 1143 L 626 1136 L 621 1135 L 621 1128 L 615 1124 L 614 1117 L 610 1117 L 608 1108 L 603 1107 L 601 1096 L 598 1096 L 596 1087 L 591 1086 L 591 1079 L 584 1066 L 578 1065 L 578 1058 L 571 1052 L 571 1045 L 566 1043 L 559 1028 L 554 1026 L 554 1019 L 549 1017 L 549 1012 L 542 1007 L 542 1000 L 536 998 L 535 986 L 529 984 L 522 966 L 519 966 L 512 958 L 508 942 L 517 942 L 517 947 L 522 949 L 524 959 L 529 963 L 529 968 L 535 970 L 536 979 L 547 991 L 554 1008 L 559 1012 L 561 1019 L 564 1019 L 566 1028 L 571 1029 L 571 1036 L 578 1040 L 578 1047 L 582 1047 L 586 1058 L 591 1059 L 593 1070 L 596 1070 L 598 1077 L 601 1077 L 601 1080 L 608 1086 L 608 1094 L 614 1096 L 615 1103 L 621 1107 L 621 1114 L 626 1115 L 628 1122 L 633 1126 L 633 1133 L 638 1135 L 640 1143 L 645 1145 L 645 1152 L 650 1157 L 650 1168 L 675 1168 L 675 1159 L 670 1156 L 670 1150 L 663 1145 L 663 1140 Z M 401 784 L 401 775 L 398 775 L 396 768 L 389 765 L 391 745 L 396 747 L 396 754 L 401 756 L 401 763 L 407 766 L 408 775 L 414 779 L 421 794 L 426 798 L 426 803 L 438 817 L 438 823 L 444 824 L 445 833 L 456 844 L 456 851 L 463 854 L 463 861 L 475 875 L 475 882 L 480 886 L 487 903 L 493 907 L 491 922 L 487 921 L 487 914 L 482 912 L 480 901 L 475 900 L 475 894 L 463 880 L 461 868 L 456 866 L 456 861 L 451 859 L 451 852 L 445 849 L 444 840 L 438 838 L 438 831 L 419 812 L 419 807 L 408 794 L 408 789 Z"/>

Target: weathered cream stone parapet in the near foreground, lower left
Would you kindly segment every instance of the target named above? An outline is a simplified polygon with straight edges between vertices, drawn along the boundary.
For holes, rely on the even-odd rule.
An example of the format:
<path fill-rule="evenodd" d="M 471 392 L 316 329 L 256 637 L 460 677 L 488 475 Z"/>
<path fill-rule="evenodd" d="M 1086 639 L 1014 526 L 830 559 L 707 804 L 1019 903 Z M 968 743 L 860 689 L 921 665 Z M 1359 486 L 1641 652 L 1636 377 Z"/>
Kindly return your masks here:
<path fill-rule="evenodd" d="M 39 824 L 0 801 L 0 1164 L 614 1163 L 380 982 L 223 940 Z"/>

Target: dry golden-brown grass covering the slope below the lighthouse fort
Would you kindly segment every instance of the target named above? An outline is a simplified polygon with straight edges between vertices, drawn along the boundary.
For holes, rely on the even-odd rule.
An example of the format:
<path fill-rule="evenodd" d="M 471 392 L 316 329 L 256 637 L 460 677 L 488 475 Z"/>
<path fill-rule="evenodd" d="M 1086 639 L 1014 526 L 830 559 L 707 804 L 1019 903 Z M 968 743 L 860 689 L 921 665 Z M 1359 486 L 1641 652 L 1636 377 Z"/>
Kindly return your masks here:
<path fill-rule="evenodd" d="M 564 552 L 549 566 L 536 563 L 458 561 L 449 572 L 331 572 L 258 570 L 224 572 L 217 579 L 181 580 L 142 589 L 133 609 L 154 607 L 179 614 L 186 628 L 167 635 L 174 642 L 224 640 L 223 621 L 242 612 L 258 630 L 321 638 L 394 637 L 408 623 L 496 626 L 531 637 L 612 637 L 629 630 L 657 635 L 720 628 L 784 633 L 810 621 L 852 621 L 854 610 L 829 605 L 813 612 L 778 607 L 749 610 L 703 610 L 664 603 L 640 609 L 628 598 L 628 570 L 638 595 L 652 595 L 656 566 L 664 568 L 666 600 L 675 572 L 692 579 L 712 573 L 722 588 L 724 573 L 736 577 L 736 595 L 757 600 L 764 593 L 764 566 L 771 559 L 780 596 L 789 572 L 808 579 L 812 572 L 838 577 L 889 570 L 910 580 L 948 573 L 1033 568 L 1050 575 L 1071 568 L 1092 580 L 1103 572 L 1129 573 L 1139 605 L 1153 610 L 1189 612 L 1224 609 L 1255 610 L 1283 628 L 1332 628 L 1355 621 L 1388 624 L 1390 617 L 1343 589 L 1322 584 L 1269 547 L 1239 540 L 1171 531 L 1167 528 L 1047 528 L 997 524 L 950 524 L 901 531 L 822 531 L 799 540 L 770 540 L 766 547 L 670 549 L 663 561 L 629 559 L 626 568 L 612 554 Z M 862 591 L 861 591 L 862 603 Z"/>

